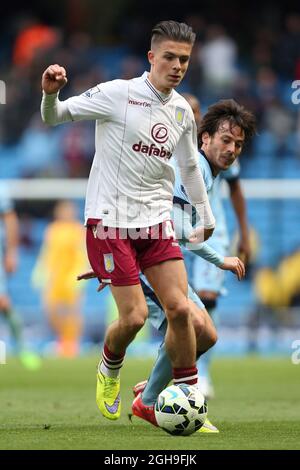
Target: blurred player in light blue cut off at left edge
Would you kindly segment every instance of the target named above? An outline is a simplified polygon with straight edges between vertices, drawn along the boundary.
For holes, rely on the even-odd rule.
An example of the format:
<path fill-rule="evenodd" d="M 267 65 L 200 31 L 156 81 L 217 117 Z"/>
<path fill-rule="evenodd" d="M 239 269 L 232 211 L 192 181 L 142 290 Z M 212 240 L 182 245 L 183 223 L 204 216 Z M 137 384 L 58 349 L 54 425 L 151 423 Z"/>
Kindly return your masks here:
<path fill-rule="evenodd" d="M 36 369 L 40 366 L 40 359 L 24 349 L 21 319 L 12 307 L 7 291 L 6 276 L 14 273 L 17 268 L 18 242 L 18 218 L 7 188 L 4 183 L 0 183 L 0 316 L 9 326 L 22 364 L 28 369 Z"/>

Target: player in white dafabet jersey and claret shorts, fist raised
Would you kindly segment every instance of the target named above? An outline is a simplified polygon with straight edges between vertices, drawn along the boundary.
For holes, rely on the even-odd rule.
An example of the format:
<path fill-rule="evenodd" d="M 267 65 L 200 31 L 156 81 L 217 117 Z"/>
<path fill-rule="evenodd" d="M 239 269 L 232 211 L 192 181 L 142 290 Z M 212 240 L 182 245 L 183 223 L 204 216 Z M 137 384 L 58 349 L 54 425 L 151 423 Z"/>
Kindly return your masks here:
<path fill-rule="evenodd" d="M 119 310 L 119 319 L 106 331 L 97 373 L 97 405 L 108 419 L 120 416 L 120 368 L 148 314 L 140 270 L 168 319 L 165 341 L 174 383 L 197 382 L 187 275 L 171 221 L 174 169 L 169 162 L 174 153 L 202 221 L 189 241 L 203 241 L 212 234 L 215 220 L 198 164 L 193 113 L 174 90 L 186 73 L 194 41 L 186 24 L 161 22 L 152 30 L 149 73 L 97 85 L 66 101 L 58 98 L 67 82 L 64 67 L 51 65 L 42 77 L 46 123 L 96 121 L 85 207 L 87 251 L 99 279 L 110 283 Z M 216 342 L 216 331 L 202 315 L 207 350 Z"/>

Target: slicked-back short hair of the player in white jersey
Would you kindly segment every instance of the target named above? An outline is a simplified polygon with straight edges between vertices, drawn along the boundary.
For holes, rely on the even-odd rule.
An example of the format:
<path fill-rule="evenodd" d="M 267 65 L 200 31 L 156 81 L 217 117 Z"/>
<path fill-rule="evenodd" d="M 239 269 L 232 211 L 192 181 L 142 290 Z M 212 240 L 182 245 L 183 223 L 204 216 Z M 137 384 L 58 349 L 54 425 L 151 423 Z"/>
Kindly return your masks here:
<path fill-rule="evenodd" d="M 191 26 L 178 21 L 168 20 L 157 23 L 151 32 L 151 48 L 164 40 L 194 44 L 196 34 Z"/>

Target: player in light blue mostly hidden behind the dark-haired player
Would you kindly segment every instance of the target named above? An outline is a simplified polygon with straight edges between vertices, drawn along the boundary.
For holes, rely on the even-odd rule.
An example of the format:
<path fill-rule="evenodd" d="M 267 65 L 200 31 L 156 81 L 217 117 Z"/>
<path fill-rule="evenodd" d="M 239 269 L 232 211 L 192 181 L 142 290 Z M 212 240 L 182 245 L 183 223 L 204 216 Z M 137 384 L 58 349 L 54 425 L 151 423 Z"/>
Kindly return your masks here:
<path fill-rule="evenodd" d="M 201 113 L 200 104 L 193 95 L 185 95 L 195 115 L 197 127 L 200 127 Z M 221 196 L 222 180 L 229 186 L 231 204 L 234 209 L 239 228 L 238 256 L 247 264 L 250 256 L 249 232 L 246 215 L 246 204 L 239 181 L 240 165 L 236 160 L 227 170 L 221 171 L 219 177 L 215 178 L 210 191 L 210 204 L 218 224 L 207 245 L 216 250 L 217 253 L 227 256 L 229 251 L 229 236 L 227 231 L 224 207 Z M 216 307 L 219 295 L 225 293 L 223 270 L 216 264 L 207 262 L 206 259 L 193 256 L 191 252 L 184 251 L 188 278 L 191 286 L 203 301 L 210 316 L 217 322 Z M 199 381 L 198 386 L 203 395 L 209 399 L 214 396 L 209 366 L 213 350 L 210 349 L 198 361 Z"/>

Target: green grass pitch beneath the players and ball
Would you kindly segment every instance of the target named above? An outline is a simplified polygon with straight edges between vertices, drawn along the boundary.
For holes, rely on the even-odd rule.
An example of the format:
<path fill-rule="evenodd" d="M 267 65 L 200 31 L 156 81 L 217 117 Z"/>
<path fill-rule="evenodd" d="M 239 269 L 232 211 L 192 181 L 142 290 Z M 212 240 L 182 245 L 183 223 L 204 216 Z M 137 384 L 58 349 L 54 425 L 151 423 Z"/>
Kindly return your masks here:
<path fill-rule="evenodd" d="M 126 360 L 122 417 L 102 418 L 96 363 L 96 357 L 45 359 L 35 372 L 15 359 L 1 365 L 0 449 L 300 449 L 300 365 L 289 358 L 216 359 L 209 417 L 220 434 L 188 437 L 128 420 L 132 386 L 147 377 L 152 360 Z"/>

